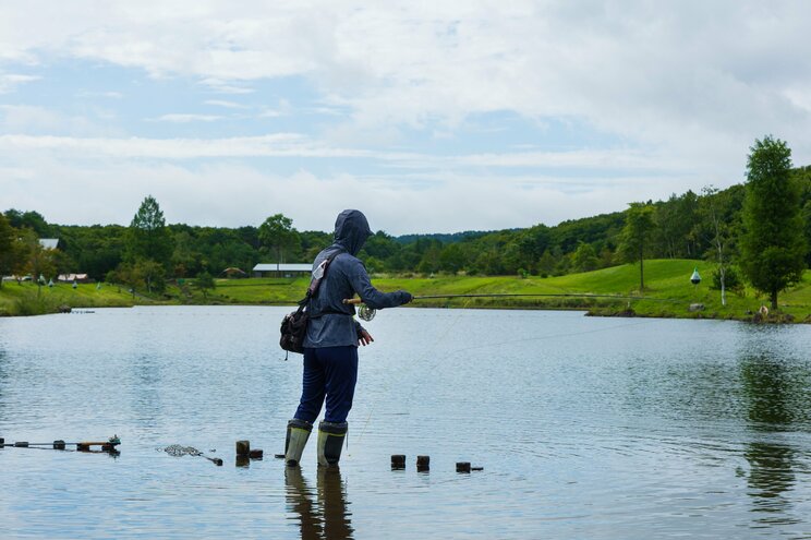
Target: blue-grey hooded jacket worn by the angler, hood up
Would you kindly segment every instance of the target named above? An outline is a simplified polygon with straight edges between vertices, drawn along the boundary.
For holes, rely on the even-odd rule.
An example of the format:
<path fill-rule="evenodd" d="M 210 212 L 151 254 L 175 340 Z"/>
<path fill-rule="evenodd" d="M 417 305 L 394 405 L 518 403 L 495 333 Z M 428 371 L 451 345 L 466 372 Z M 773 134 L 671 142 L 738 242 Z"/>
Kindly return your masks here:
<path fill-rule="evenodd" d="M 358 347 L 362 326 L 354 320 L 354 305 L 343 303 L 346 298 L 356 293 L 375 310 L 401 305 L 411 299 L 406 291 L 380 292 L 372 286 L 366 267 L 355 256 L 372 235 L 366 216 L 360 211 L 348 209 L 338 215 L 332 245 L 318 253 L 313 262 L 315 271 L 325 259 L 337 253 L 307 304 L 310 322 L 304 347 Z"/>

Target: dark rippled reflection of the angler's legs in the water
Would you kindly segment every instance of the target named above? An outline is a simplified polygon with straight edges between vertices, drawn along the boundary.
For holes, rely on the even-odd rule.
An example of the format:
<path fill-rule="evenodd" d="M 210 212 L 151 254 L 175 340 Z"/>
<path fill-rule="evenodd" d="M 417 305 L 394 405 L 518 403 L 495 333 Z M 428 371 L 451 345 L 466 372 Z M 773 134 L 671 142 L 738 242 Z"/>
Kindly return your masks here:
<path fill-rule="evenodd" d="M 353 538 L 340 469 L 318 467 L 316 478 L 316 490 L 313 491 L 300 467 L 285 470 L 288 511 L 299 521 L 302 540 Z"/>

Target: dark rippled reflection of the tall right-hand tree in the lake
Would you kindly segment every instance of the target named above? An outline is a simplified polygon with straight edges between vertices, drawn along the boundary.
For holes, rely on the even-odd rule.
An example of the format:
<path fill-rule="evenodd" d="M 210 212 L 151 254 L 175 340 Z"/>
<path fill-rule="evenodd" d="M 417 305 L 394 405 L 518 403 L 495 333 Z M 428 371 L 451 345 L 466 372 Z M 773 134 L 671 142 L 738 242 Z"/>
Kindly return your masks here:
<path fill-rule="evenodd" d="M 803 401 L 806 389 L 798 386 L 803 373 L 778 353 L 763 351 L 745 356 L 740 370 L 750 428 L 762 434 L 748 443 L 743 453 L 750 466 L 747 480 L 752 512 L 765 513 L 754 521 L 759 527 L 800 523 L 788 515 L 792 506 L 788 494 L 797 482 L 800 464 L 797 451 L 783 440 L 783 433 L 802 420 L 803 412 L 796 405 Z"/>

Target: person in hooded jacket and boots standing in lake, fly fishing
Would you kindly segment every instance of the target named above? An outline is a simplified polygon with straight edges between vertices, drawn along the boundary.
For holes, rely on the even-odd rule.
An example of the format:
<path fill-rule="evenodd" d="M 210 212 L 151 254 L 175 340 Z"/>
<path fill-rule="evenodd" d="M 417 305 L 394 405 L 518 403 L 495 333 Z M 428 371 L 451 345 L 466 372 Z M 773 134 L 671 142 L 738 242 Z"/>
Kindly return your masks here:
<path fill-rule="evenodd" d="M 366 216 L 348 209 L 335 221 L 334 243 L 318 253 L 313 273 L 331 257 L 317 292 L 307 303 L 307 334 L 304 339 L 304 376 L 301 399 L 288 422 L 285 459 L 295 466 L 326 399 L 324 420 L 318 424 L 318 465 L 337 465 L 349 424 L 358 382 L 358 346 L 374 341 L 354 319 L 354 305 L 343 303 L 355 293 L 372 309 L 395 308 L 412 300 L 404 291 L 380 292 L 370 281 L 363 263 L 355 256 L 373 235 Z"/>

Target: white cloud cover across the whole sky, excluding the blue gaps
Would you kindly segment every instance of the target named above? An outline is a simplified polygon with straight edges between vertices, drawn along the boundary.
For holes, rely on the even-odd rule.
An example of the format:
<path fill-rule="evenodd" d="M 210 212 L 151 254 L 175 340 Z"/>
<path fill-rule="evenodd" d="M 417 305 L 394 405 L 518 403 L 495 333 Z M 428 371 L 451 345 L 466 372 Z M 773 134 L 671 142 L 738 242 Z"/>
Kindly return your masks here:
<path fill-rule="evenodd" d="M 306 187 L 326 206 L 334 204 L 329 197 L 350 204 L 358 193 L 371 207 L 377 200 L 391 203 L 385 219 L 403 231 L 411 230 L 403 225 L 409 212 L 399 208 L 422 204 L 431 207 L 420 214 L 426 230 L 523 226 L 536 215 L 554 221 L 739 181 L 747 148 L 766 133 L 787 140 L 796 163 L 811 163 L 809 20 L 811 3 L 754 0 L 7 2 L 0 8 L 3 65 L 38 67 L 48 80 L 46 67 L 65 58 L 135 68 L 155 80 L 191 81 L 214 97 L 253 94 L 261 103 L 269 95 L 266 103 L 280 105 L 253 106 L 256 116 L 295 122 L 296 113 L 319 113 L 324 125 L 307 136 L 126 136 L 142 133 L 136 128 L 107 139 L 99 135 L 104 125 L 86 120 L 84 111 L 21 103 L 0 110 L 0 148 L 28 156 L 29 163 L 10 164 L 12 170 L 39 170 L 40 160 L 59 157 L 80 181 L 80 164 L 87 161 L 88 178 L 120 173 L 132 179 L 134 191 L 153 187 L 138 183 L 136 172 L 172 185 L 172 175 L 192 182 L 197 170 L 177 161 L 136 170 L 135 159 L 216 158 L 199 178 L 201 193 L 214 197 L 209 204 L 221 203 L 210 190 L 228 170 L 268 197 L 282 185 L 293 194 Z M 0 75 L 0 93 L 31 82 L 21 76 L 34 75 Z M 310 107 L 285 106 L 285 97 L 294 97 L 275 94 L 268 84 L 287 77 L 305 87 Z M 228 98 L 204 103 L 239 108 Z M 233 118 L 191 111 L 154 117 L 164 125 L 150 128 Z M 528 145 L 525 152 L 465 149 L 467 120 L 501 112 L 538 125 L 571 122 L 584 140 L 597 133 L 609 142 L 578 142 L 576 133 L 573 147 L 556 152 L 546 139 L 535 140 L 543 139 L 540 130 L 526 130 L 508 140 L 512 147 Z M 138 118 L 150 115 L 156 112 Z M 49 136 L 33 136 L 44 133 Z M 448 145 L 458 149 L 392 152 L 408 136 L 425 137 L 422 143 L 434 137 L 437 146 L 458 141 Z M 349 175 L 339 164 L 328 178 L 282 178 L 231 163 L 251 157 L 368 159 L 390 175 Z M 43 168 L 35 176 L 61 178 L 53 172 Z M 256 204 L 230 196 L 229 206 Z M 167 203 L 182 208 L 173 197 L 169 193 Z M 194 204 L 206 206 L 202 197 Z M 491 201 L 499 205 L 491 207 Z M 446 220 L 451 202 L 471 211 Z"/>

